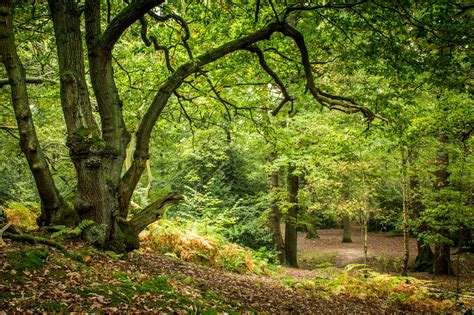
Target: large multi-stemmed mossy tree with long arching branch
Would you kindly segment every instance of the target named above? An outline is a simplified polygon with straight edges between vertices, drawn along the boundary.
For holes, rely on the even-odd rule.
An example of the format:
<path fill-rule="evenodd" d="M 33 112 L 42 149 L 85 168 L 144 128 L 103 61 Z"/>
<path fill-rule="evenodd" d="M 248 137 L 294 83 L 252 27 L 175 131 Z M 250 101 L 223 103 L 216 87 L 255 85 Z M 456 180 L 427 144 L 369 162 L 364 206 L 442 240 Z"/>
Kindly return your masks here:
<path fill-rule="evenodd" d="M 227 21 L 225 18 L 212 20 L 214 16 L 218 16 L 213 10 L 228 12 L 233 6 L 238 7 L 244 15 L 247 14 L 246 24 L 241 24 L 242 30 L 239 32 L 229 32 L 227 24 L 231 22 L 231 18 L 243 16 L 229 17 Z M 199 37 L 199 32 L 194 34 L 190 31 L 188 19 L 197 18 L 187 16 L 192 11 L 188 10 L 190 7 L 201 8 L 203 17 L 200 18 L 207 21 L 202 27 L 208 26 L 210 32 L 220 33 L 220 36 L 215 37 L 217 43 L 193 45 L 192 40 Z M 459 38 L 444 38 L 442 32 L 429 23 L 424 23 L 424 16 L 420 18 L 412 15 L 407 7 L 409 6 L 402 3 L 386 5 L 371 1 L 346 4 L 296 1 L 278 5 L 271 1 L 257 1 L 256 5 L 239 1 L 188 4 L 183 1 L 165 3 L 164 0 L 134 0 L 120 4 L 94 0 L 86 0 L 84 3 L 73 0 L 48 1 L 48 14 L 54 26 L 52 36 L 57 51 L 60 102 L 67 127 L 66 143 L 77 178 L 74 203 L 70 205 L 55 185 L 36 135 L 28 97 L 28 84 L 34 78 L 27 76 L 17 51 L 15 3 L 12 0 L 0 1 L 0 53 L 11 89 L 20 146 L 41 199 L 39 224 L 48 226 L 90 219 L 96 224 L 85 231 L 84 238 L 87 241 L 117 251 L 136 248 L 137 234 L 157 220 L 167 204 L 179 200 L 179 195 L 172 192 L 129 218 L 131 199 L 149 158 L 150 138 L 155 124 L 170 103 L 170 98 L 173 95 L 179 97 L 180 87 L 192 84 L 192 80 L 198 76 L 206 77 L 212 86 L 207 73 L 213 69 L 206 67 L 233 56 L 238 51 L 253 55 L 261 71 L 272 79 L 273 86 L 279 90 L 280 102 L 272 109 L 273 115 L 291 102 L 293 96 L 275 71 L 275 62 L 267 62 L 267 51 L 276 52 L 281 56 L 278 60 L 285 60 L 300 70 L 297 71 L 295 80 L 304 82 L 305 90 L 317 103 L 346 113 L 362 113 L 367 120 L 373 120 L 376 115 L 360 102 L 351 97 L 325 92 L 319 87 L 314 78 L 318 62 L 311 60 L 312 56 L 307 48 L 310 44 L 307 42 L 311 41 L 311 47 L 317 48 L 318 38 L 313 35 L 319 34 L 319 30 L 313 31 L 312 28 L 316 28 L 321 21 L 326 21 L 331 34 L 338 33 L 338 36 L 347 37 L 346 44 L 350 45 L 352 42 L 356 46 L 355 51 L 360 55 L 354 54 L 354 60 L 361 56 L 373 57 L 379 53 L 377 45 L 380 45 L 383 49 L 380 55 L 382 58 L 386 57 L 386 60 L 401 64 L 397 60 L 400 57 L 409 59 L 406 64 L 411 60 L 417 62 L 425 54 L 417 50 L 419 42 L 403 42 L 410 37 L 410 32 L 415 39 L 422 37 L 413 30 L 423 31 L 429 35 L 425 37 L 433 42 L 451 41 L 453 45 L 459 45 Z M 452 12 L 468 10 L 456 5 L 445 7 L 451 8 Z M 339 12 L 340 17 L 336 15 Z M 391 17 L 386 22 L 381 20 L 384 14 Z M 176 22 L 181 33 L 172 48 L 181 47 L 185 57 L 173 59 L 170 47 L 163 45 L 159 36 L 148 32 L 152 24 L 164 25 L 169 21 Z M 217 23 L 219 27 L 211 28 L 212 23 Z M 338 23 L 346 25 L 343 27 Z M 356 25 L 360 35 L 345 31 L 348 29 L 355 32 Z M 397 27 L 398 33 L 395 32 Z M 137 28 L 139 32 L 132 32 Z M 369 34 L 373 36 L 371 41 L 361 40 Z M 167 72 L 162 73 L 161 64 L 146 66 L 156 67 L 160 71 L 157 76 L 162 77 L 162 80 L 152 87 L 154 97 L 144 106 L 144 113 L 133 131 L 125 123 L 124 91 L 117 85 L 117 74 L 113 66 L 115 49 L 126 36 L 135 36 L 142 40 L 144 46 L 162 51 L 165 55 L 162 64 L 167 69 Z M 366 45 L 356 44 L 353 37 Z M 264 45 L 265 50 L 262 49 Z M 291 47 L 291 57 L 280 52 L 282 45 Z M 407 51 L 412 55 L 405 55 Z M 341 55 L 340 58 L 345 61 L 348 56 Z M 426 59 L 428 62 L 431 60 Z M 404 68 L 400 67 L 398 70 L 402 71 Z M 216 92 L 215 86 L 212 86 L 212 90 Z M 220 101 L 224 101 L 218 93 L 215 94 Z M 128 164 L 126 157 L 130 144 L 133 144 L 129 151 L 133 151 L 133 159 L 125 167 Z M 292 242 L 296 242 L 296 239 Z"/>

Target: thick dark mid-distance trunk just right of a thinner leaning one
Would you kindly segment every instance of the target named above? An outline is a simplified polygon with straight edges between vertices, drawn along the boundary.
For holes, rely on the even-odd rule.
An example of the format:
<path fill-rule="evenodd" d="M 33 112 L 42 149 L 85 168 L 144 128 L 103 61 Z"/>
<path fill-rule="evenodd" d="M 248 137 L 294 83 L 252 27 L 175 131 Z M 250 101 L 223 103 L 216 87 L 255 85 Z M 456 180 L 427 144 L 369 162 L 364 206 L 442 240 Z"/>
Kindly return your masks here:
<path fill-rule="evenodd" d="M 288 165 L 287 190 L 288 201 L 292 204 L 288 209 L 285 220 L 285 255 L 286 263 L 292 267 L 298 267 L 296 230 L 298 223 L 298 176 L 294 175 L 295 166 Z"/>

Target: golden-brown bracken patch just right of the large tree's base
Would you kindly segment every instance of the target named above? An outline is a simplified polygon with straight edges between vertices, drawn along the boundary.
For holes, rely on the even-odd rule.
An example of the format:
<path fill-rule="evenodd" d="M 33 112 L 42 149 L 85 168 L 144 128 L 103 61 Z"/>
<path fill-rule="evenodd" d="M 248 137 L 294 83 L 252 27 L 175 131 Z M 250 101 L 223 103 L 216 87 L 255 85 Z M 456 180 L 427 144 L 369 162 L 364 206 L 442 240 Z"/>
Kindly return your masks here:
<path fill-rule="evenodd" d="M 140 234 L 142 249 L 237 273 L 269 274 L 278 268 L 260 253 L 230 243 L 212 226 L 160 220 Z"/>

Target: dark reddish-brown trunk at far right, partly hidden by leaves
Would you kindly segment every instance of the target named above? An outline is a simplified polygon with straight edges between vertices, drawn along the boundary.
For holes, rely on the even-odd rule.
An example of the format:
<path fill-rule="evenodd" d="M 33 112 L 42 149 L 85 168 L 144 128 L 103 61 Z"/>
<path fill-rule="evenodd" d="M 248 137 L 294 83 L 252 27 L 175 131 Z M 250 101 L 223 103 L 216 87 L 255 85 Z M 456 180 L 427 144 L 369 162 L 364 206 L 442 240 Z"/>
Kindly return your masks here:
<path fill-rule="evenodd" d="M 440 147 L 437 152 L 436 156 L 436 166 L 437 171 L 436 175 L 436 189 L 441 190 L 446 187 L 449 182 L 449 172 L 448 172 L 448 164 L 449 164 L 449 155 L 444 148 L 444 144 L 447 143 L 447 138 L 444 135 L 438 137 L 440 142 Z M 441 215 L 438 220 L 441 222 L 445 221 L 446 218 L 444 215 Z M 449 238 L 449 231 L 447 228 L 442 228 L 438 231 L 439 234 L 442 236 Z M 451 248 L 449 244 L 435 244 L 435 261 L 433 265 L 433 273 L 438 275 L 449 275 L 452 273 L 451 269 Z"/>

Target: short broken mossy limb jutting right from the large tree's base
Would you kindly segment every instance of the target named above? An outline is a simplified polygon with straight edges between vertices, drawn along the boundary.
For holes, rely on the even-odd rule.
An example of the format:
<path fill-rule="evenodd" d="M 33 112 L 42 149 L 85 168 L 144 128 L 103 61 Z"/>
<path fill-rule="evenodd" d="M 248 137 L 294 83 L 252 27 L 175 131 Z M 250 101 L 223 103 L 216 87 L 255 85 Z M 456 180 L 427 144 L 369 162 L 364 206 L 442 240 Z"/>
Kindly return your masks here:
<path fill-rule="evenodd" d="M 171 192 L 164 198 L 151 203 L 145 209 L 133 216 L 133 218 L 128 222 L 130 227 L 135 233 L 140 233 L 149 224 L 158 220 L 168 206 L 179 202 L 182 198 L 181 194 Z"/>

